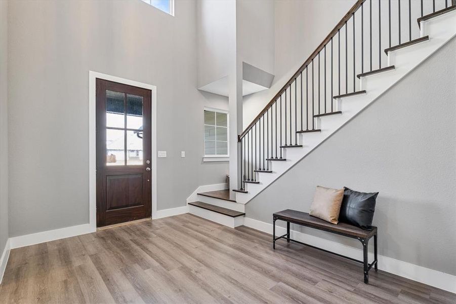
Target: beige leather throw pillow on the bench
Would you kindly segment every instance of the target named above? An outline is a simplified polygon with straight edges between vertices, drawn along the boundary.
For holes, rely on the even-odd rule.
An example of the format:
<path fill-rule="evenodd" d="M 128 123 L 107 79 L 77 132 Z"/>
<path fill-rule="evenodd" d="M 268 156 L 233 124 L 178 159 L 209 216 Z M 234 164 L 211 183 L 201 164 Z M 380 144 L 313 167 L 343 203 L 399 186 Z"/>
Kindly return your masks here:
<path fill-rule="evenodd" d="M 333 224 L 338 223 L 344 189 L 331 189 L 317 186 L 310 215 L 321 218 Z"/>

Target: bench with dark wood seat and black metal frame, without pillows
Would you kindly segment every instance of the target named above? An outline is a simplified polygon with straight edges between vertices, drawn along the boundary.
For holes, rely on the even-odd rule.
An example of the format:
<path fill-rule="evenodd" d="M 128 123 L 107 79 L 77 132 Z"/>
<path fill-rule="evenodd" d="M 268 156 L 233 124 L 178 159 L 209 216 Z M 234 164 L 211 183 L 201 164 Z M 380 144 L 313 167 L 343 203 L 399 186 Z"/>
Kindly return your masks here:
<path fill-rule="evenodd" d="M 331 231 L 329 229 L 320 229 L 318 227 L 314 227 L 314 226 L 311 226 L 311 225 L 306 225 L 306 224 L 303 224 L 303 223 L 300 223 L 300 222 L 295 222 L 295 221 L 290 220 L 290 219 L 284 219 L 284 218 L 281 218 L 280 216 L 275 216 L 274 215 L 272 217 L 272 220 L 273 220 L 272 249 L 275 249 L 275 241 L 277 241 L 279 239 L 285 239 L 287 243 L 292 241 L 292 242 L 295 242 L 295 243 L 298 243 L 298 244 L 301 244 L 301 245 L 309 246 L 309 247 L 312 247 L 312 248 L 315 248 L 315 249 L 318 249 L 318 250 L 321 250 L 321 251 L 324 251 L 324 252 L 327 252 L 327 253 L 331 253 L 331 254 L 334 254 L 334 255 L 337 255 L 337 256 L 340 256 L 340 257 L 344 257 L 344 258 L 352 260 L 354 262 L 361 263 L 364 266 L 364 284 L 369 284 L 369 270 L 372 268 L 372 266 L 374 266 L 375 271 L 378 271 L 377 230 L 375 231 L 374 234 L 370 235 L 367 238 L 360 238 L 360 237 L 355 237 L 355 236 L 352 236 L 352 235 L 344 234 L 344 233 L 341 233 L 341 232 Z M 276 220 L 283 220 L 283 221 L 286 222 L 286 234 L 284 234 L 283 236 L 277 237 L 277 238 L 275 237 L 275 221 Z M 352 238 L 352 239 L 357 239 L 358 241 L 361 242 L 362 247 L 363 247 L 363 260 L 362 261 L 361 260 L 357 260 L 357 259 L 349 257 L 349 256 L 345 256 L 345 255 L 342 255 L 342 254 L 339 254 L 339 253 L 336 253 L 336 252 L 328 251 L 328 250 L 325 250 L 325 249 L 322 249 L 322 248 L 318 248 L 318 247 L 315 247 L 315 246 L 312 246 L 312 245 L 309 245 L 309 244 L 306 244 L 306 243 L 291 239 L 290 238 L 290 223 L 294 223 L 294 224 L 297 224 L 297 225 L 300 225 L 300 226 L 310 227 L 310 228 L 313 228 L 313 229 L 316 229 L 316 230 L 322 230 L 322 231 L 338 234 L 338 235 L 349 237 L 349 238 Z M 367 245 L 369 243 L 369 240 L 372 237 L 374 237 L 374 261 L 369 263 L 368 262 L 368 258 L 367 258 Z"/>

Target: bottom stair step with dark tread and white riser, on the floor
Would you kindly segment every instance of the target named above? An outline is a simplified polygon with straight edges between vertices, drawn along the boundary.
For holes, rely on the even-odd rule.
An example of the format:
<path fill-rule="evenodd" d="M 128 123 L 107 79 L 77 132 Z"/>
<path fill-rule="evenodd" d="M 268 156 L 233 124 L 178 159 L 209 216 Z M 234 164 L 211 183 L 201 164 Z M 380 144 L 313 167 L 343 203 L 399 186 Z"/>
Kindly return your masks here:
<path fill-rule="evenodd" d="M 231 210 L 204 202 L 188 203 L 188 212 L 207 220 L 235 228 L 244 222 L 244 212 Z"/>

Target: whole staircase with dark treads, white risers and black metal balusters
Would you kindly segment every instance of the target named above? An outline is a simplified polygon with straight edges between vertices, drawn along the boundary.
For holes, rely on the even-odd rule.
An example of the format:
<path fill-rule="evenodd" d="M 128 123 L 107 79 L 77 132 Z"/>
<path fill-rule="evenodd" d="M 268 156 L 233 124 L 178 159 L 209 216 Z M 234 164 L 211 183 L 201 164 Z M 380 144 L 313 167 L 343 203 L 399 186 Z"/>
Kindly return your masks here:
<path fill-rule="evenodd" d="M 236 200 L 226 200 L 228 189 L 223 198 L 198 193 L 197 202 L 187 200 L 189 212 L 242 224 L 244 204 L 455 35 L 454 0 L 358 0 L 239 135 Z M 233 210 L 231 220 L 219 218 Z"/>

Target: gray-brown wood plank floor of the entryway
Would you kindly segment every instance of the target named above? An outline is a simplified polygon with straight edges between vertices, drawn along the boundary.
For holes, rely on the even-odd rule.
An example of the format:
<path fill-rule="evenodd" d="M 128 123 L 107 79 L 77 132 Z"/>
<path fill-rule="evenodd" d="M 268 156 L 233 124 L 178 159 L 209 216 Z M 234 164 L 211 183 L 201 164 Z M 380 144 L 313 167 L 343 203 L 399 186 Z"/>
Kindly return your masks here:
<path fill-rule="evenodd" d="M 456 295 L 191 214 L 11 251 L 0 303 L 455 303 Z"/>

